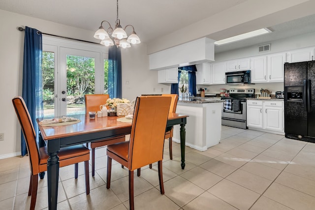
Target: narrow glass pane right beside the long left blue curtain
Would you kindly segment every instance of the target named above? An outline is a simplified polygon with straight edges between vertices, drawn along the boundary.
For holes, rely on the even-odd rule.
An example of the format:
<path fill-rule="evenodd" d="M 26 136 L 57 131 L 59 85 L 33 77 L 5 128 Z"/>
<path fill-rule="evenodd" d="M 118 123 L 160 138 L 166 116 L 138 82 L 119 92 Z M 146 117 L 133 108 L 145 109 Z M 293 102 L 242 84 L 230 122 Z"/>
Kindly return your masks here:
<path fill-rule="evenodd" d="M 55 115 L 55 53 L 44 52 L 42 56 L 44 117 Z"/>

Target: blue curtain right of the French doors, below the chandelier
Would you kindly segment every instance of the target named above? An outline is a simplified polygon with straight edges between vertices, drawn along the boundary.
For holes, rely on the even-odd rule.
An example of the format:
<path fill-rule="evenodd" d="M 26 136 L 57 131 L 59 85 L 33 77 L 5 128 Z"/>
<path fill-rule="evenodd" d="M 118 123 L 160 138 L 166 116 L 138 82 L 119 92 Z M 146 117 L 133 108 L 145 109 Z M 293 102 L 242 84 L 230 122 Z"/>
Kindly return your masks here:
<path fill-rule="evenodd" d="M 122 97 L 122 54 L 115 45 L 108 49 L 108 94 L 111 98 Z"/>

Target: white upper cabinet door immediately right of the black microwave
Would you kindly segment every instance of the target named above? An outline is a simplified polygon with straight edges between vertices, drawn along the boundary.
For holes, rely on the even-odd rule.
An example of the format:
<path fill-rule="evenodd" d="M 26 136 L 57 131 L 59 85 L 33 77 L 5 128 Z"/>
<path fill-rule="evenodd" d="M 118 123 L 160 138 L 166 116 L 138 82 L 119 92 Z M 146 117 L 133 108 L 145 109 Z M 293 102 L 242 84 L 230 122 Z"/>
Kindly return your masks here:
<path fill-rule="evenodd" d="M 251 59 L 252 83 L 267 82 L 267 56 Z"/>

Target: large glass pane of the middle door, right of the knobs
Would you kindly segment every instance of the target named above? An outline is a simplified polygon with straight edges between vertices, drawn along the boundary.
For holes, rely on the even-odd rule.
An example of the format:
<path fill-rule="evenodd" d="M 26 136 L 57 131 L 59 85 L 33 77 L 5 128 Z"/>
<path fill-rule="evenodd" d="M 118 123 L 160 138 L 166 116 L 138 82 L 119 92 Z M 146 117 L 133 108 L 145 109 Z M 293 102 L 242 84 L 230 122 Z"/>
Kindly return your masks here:
<path fill-rule="evenodd" d="M 67 55 L 67 115 L 85 113 L 85 94 L 95 93 L 95 59 Z"/>

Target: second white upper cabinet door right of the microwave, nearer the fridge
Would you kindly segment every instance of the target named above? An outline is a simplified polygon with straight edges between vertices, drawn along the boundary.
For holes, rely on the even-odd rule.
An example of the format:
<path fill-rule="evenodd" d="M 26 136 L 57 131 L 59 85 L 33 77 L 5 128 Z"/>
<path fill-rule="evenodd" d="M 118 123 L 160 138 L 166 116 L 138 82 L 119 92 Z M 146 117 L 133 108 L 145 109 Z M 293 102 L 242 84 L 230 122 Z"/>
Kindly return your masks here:
<path fill-rule="evenodd" d="M 275 53 L 268 55 L 268 81 L 284 82 L 284 63 L 286 53 Z"/>

